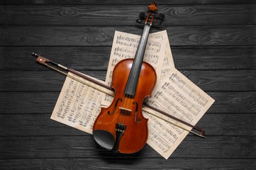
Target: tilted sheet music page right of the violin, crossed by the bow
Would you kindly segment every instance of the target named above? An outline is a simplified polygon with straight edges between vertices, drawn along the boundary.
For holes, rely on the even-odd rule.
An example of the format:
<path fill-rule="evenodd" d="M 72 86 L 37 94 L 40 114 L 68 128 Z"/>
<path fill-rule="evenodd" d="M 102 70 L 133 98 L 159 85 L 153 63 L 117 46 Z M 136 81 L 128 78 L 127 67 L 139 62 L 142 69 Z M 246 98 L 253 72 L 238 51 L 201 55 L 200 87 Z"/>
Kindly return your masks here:
<path fill-rule="evenodd" d="M 171 69 L 169 75 L 161 80 L 160 84 L 152 92 L 152 97 L 148 99 L 148 104 L 164 112 L 171 114 L 189 124 L 196 125 L 203 114 L 213 104 L 207 93 L 182 75 L 177 69 Z M 147 110 L 147 109 L 143 109 Z M 180 127 L 169 124 L 150 114 L 144 114 L 149 118 L 149 137 L 147 143 L 152 146 L 165 159 L 169 158 L 173 151 L 186 137 L 188 131 Z M 181 123 L 158 114 L 165 120 L 170 120 L 174 124 L 186 127 Z M 191 127 L 186 127 L 192 129 Z"/>

